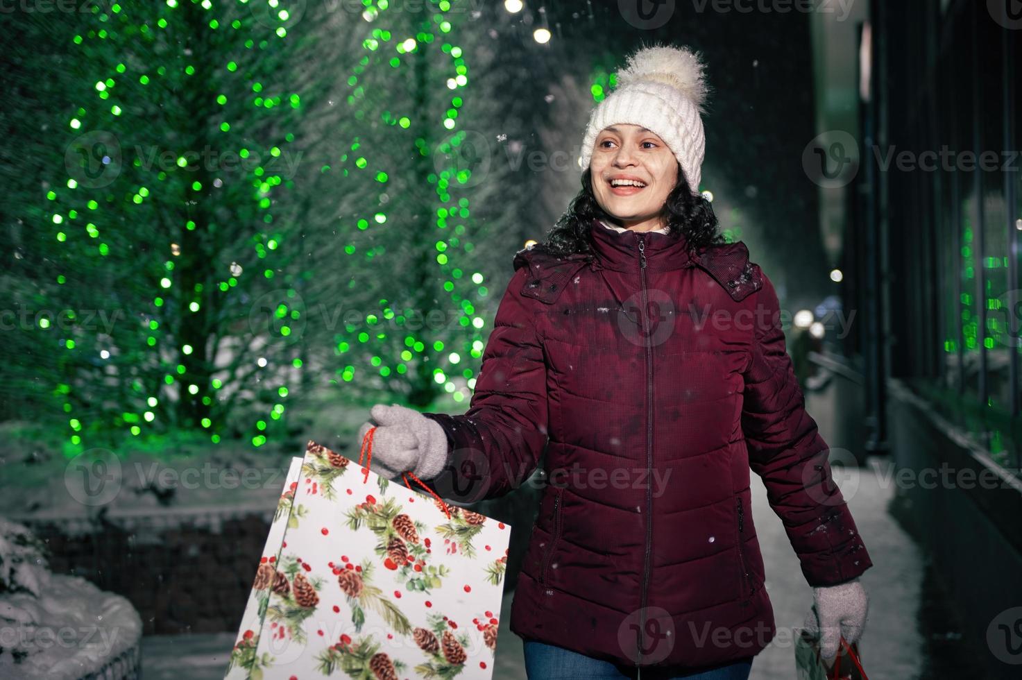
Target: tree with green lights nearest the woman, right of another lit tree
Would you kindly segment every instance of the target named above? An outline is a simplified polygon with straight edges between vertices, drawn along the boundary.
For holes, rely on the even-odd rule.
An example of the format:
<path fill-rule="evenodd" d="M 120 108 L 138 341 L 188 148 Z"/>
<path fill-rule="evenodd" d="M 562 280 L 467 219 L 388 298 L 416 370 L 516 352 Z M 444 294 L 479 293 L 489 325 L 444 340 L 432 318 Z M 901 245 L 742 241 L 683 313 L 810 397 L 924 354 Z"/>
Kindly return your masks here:
<path fill-rule="evenodd" d="M 473 3 L 422 5 L 362 14 L 364 54 L 344 97 L 358 124 L 345 126 L 332 169 L 344 182 L 331 252 L 351 272 L 338 294 L 351 316 L 334 314 L 339 383 L 420 407 L 471 396 L 491 272 L 510 272 L 521 246 L 508 201 L 527 199 L 496 155 L 499 95 L 509 93 L 472 76 L 498 62 Z"/>

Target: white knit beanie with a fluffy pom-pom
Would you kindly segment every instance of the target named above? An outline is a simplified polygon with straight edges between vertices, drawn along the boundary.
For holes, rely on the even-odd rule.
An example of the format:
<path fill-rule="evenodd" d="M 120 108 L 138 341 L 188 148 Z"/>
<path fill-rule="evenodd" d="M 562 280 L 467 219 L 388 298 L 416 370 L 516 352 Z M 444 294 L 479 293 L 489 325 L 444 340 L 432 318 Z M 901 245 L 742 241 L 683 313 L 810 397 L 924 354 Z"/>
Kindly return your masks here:
<path fill-rule="evenodd" d="M 655 132 L 675 153 L 692 193 L 699 193 L 706 136 L 701 115 L 709 93 L 705 64 L 686 47 L 644 47 L 617 72 L 617 86 L 593 109 L 582 143 L 579 168 L 589 168 L 596 136 L 621 123 Z"/>

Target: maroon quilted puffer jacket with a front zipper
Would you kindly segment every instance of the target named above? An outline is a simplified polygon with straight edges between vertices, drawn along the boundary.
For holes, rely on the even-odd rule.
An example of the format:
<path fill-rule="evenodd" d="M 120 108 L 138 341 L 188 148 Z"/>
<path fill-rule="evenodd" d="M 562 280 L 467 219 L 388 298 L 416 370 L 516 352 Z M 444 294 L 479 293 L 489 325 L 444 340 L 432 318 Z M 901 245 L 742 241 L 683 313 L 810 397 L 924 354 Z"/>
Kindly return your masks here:
<path fill-rule="evenodd" d="M 753 655 L 776 629 L 750 467 L 810 585 L 872 564 L 777 294 L 741 241 L 690 257 L 667 234 L 591 234 L 595 258 L 515 256 L 469 410 L 425 414 L 447 432 L 447 471 L 474 470 L 476 499 L 500 496 L 546 446 L 516 634 L 644 667 Z"/>

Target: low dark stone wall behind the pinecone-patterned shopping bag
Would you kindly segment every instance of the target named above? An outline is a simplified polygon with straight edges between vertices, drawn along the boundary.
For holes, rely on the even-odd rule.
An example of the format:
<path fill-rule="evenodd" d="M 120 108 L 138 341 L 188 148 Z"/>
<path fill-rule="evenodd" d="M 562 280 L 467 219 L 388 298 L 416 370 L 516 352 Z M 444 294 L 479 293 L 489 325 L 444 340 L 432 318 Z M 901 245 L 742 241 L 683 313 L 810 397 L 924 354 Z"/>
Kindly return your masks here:
<path fill-rule="evenodd" d="M 512 526 L 505 592 L 513 589 L 539 493 L 513 494 L 470 507 Z M 80 516 L 11 516 L 49 546 L 56 574 L 81 576 L 124 595 L 145 635 L 236 631 L 273 508 L 210 507 L 111 510 Z"/>

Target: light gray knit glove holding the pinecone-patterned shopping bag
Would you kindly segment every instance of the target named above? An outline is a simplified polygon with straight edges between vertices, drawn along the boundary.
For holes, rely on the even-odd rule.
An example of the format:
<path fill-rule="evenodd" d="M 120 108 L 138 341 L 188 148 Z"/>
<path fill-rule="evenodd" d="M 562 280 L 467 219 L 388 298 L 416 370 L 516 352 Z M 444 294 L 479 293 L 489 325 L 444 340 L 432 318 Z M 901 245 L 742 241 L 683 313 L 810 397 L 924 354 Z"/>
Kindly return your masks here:
<path fill-rule="evenodd" d="M 369 414 L 376 422 L 363 423 L 357 446 L 361 450 L 366 433 L 377 425 L 373 433 L 370 469 L 388 480 L 411 470 L 423 482 L 443 471 L 448 441 L 439 423 L 398 404 L 376 404 Z"/>

